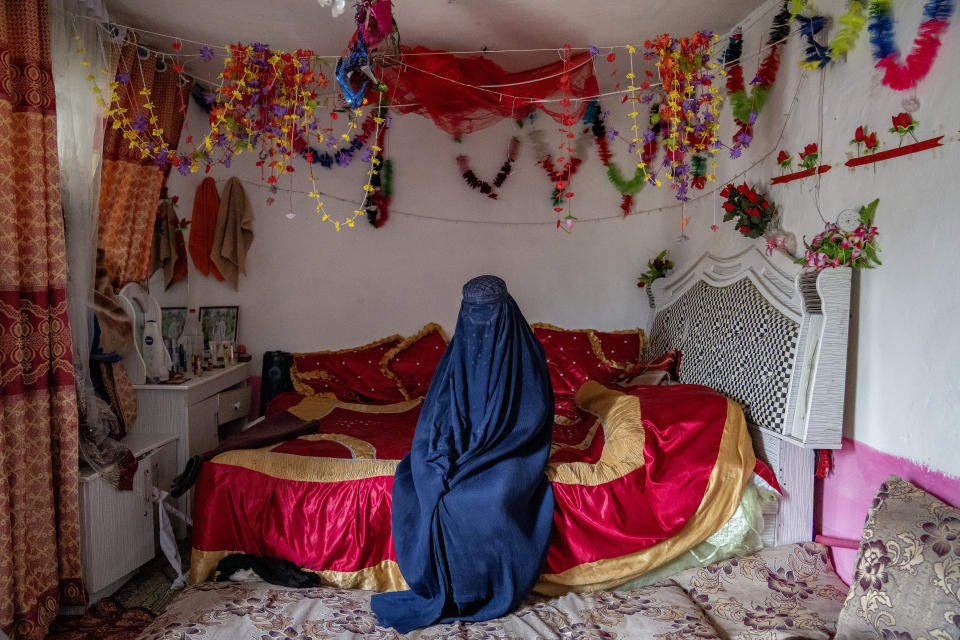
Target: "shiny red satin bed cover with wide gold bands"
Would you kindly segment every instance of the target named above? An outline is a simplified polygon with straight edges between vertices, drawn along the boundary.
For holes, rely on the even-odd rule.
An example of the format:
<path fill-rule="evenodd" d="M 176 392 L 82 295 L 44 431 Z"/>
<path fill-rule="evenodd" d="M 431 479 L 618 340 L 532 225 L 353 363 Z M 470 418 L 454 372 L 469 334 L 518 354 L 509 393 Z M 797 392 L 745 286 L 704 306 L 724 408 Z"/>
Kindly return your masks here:
<path fill-rule="evenodd" d="M 578 426 L 554 427 L 554 528 L 537 590 L 602 589 L 699 544 L 734 513 L 755 468 L 740 406 L 695 385 L 584 385 Z M 420 401 L 354 405 L 308 396 L 270 420 L 316 433 L 204 464 L 190 580 L 230 553 L 284 558 L 343 588 L 405 589 L 391 487 Z"/>

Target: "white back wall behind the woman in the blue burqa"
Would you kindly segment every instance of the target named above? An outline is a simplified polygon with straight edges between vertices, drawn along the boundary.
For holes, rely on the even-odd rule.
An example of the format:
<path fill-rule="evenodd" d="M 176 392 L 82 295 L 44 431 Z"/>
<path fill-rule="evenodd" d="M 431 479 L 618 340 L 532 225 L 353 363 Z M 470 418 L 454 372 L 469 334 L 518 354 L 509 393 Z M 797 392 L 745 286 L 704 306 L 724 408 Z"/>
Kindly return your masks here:
<path fill-rule="evenodd" d="M 629 130 L 628 110 L 618 107 L 623 114 L 618 128 Z M 205 121 L 205 114 L 191 105 L 189 131 L 185 129 L 181 140 L 189 133 L 194 140 L 201 139 Z M 572 234 L 556 230 L 552 182 L 534 164 L 533 145 L 526 137 L 530 128 L 538 127 L 548 132 L 551 145 L 559 142 L 556 124 L 542 115 L 522 129 L 504 122 L 469 135 L 462 143 L 425 118 L 396 116 L 387 141 L 394 165 L 394 213 L 384 227 L 374 229 L 358 219 L 356 228 L 337 233 L 316 217 L 308 196 L 293 194 L 291 206 L 290 194 L 281 191 L 268 206 L 265 185 L 244 185 L 254 210 L 255 239 L 239 292 L 200 276 L 191 262 L 188 284 L 158 297 L 170 306 L 187 300 L 198 307 L 239 305 L 239 337 L 255 355 L 252 371 L 257 373 L 259 357 L 269 349 L 354 346 L 394 332 L 408 335 L 431 321 L 452 334 L 460 288 L 484 273 L 506 280 L 531 322 L 598 329 L 646 326 L 647 299 L 636 287 L 636 277 L 666 246 L 663 238 L 674 233 L 679 219 L 657 215 L 621 219 L 620 196 L 606 180 L 591 137 L 584 164 L 572 182 L 573 212 L 581 218 L 614 218 L 578 224 Z M 523 142 L 499 199 L 472 191 L 459 174 L 456 156 L 467 153 L 475 171 L 492 180 L 513 134 Z M 626 158 L 625 145 L 617 156 L 626 173 L 633 163 Z M 230 170 L 217 167 L 210 175 L 221 188 L 232 175 L 258 180 L 255 161 L 252 155 L 240 156 Z M 368 165 L 359 161 L 354 165 L 333 170 L 317 165 L 320 188 L 359 200 Z M 298 161 L 296 169 L 293 186 L 305 191 L 306 163 Z M 171 175 L 169 192 L 180 197 L 181 217 L 189 219 L 203 177 Z M 286 179 L 282 182 L 284 188 L 289 186 Z M 644 207 L 673 202 L 667 190 L 652 187 L 639 200 Z M 325 202 L 331 215 L 356 208 L 329 197 Z M 292 220 L 285 217 L 291 210 L 297 214 Z M 515 222 L 535 224 L 511 224 Z M 157 278 L 151 288 L 156 295 Z"/>

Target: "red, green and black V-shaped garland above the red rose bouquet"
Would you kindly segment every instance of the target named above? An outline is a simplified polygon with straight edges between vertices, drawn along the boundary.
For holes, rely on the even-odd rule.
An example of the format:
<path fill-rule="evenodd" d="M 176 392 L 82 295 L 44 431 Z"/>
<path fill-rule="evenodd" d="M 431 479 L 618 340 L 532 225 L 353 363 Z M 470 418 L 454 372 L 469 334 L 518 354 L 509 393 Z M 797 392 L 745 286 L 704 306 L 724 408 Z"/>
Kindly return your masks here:
<path fill-rule="evenodd" d="M 740 127 L 733 137 L 734 148 L 731 158 L 739 157 L 741 149 L 750 145 L 753 140 L 753 125 L 757 116 L 767 103 L 770 89 L 777 81 L 777 71 L 780 68 L 780 51 L 783 40 L 790 35 L 790 11 L 784 0 L 780 11 L 773 18 L 770 33 L 767 36 L 767 45 L 770 50 L 763 62 L 757 67 L 757 75 L 750 81 L 750 94 L 747 95 L 743 79 L 743 67 L 740 65 L 740 56 L 743 54 L 743 34 L 734 33 L 730 36 L 727 50 L 723 54 L 723 65 L 727 74 L 727 96 L 733 111 L 733 120 Z"/>

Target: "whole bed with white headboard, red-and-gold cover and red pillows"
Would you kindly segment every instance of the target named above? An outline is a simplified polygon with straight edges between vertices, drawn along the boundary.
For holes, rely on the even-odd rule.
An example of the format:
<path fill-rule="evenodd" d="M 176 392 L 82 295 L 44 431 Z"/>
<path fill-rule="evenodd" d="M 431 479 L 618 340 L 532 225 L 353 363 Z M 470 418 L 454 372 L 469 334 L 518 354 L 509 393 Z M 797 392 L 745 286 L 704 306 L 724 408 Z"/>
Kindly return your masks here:
<path fill-rule="evenodd" d="M 762 542 L 810 540 L 812 448 L 840 442 L 849 283 L 848 271 L 796 275 L 753 249 L 705 255 L 656 283 L 649 339 L 534 325 L 556 400 L 557 500 L 536 590 L 609 589 L 702 550 L 755 485 L 783 494 L 767 503 Z M 405 588 L 392 476 L 444 342 L 428 325 L 297 354 L 296 393 L 254 427 L 291 437 L 224 450 L 200 470 L 191 583 L 243 552 L 341 589 Z M 682 384 L 648 384 L 662 372 Z"/>

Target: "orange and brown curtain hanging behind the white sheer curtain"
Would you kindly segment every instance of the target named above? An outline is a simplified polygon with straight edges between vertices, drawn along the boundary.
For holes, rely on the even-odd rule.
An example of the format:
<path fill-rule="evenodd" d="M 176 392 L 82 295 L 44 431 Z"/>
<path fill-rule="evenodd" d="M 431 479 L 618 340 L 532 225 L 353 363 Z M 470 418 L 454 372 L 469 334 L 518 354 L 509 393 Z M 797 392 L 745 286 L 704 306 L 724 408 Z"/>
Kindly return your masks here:
<path fill-rule="evenodd" d="M 119 53 L 117 75 L 123 80 L 117 89 L 123 117 L 144 129 L 141 139 L 155 144 L 162 139 L 171 153 L 176 150 L 190 97 L 190 85 L 173 66 L 136 43 L 123 46 Z M 149 95 L 144 95 L 144 88 Z M 152 109 L 144 108 L 147 103 Z M 156 117 L 151 123 L 149 118 Z M 103 169 L 100 178 L 100 240 L 105 265 L 114 283 L 144 280 L 150 273 L 150 247 L 153 225 L 160 202 L 160 188 L 170 165 L 161 166 L 153 158 L 143 158 L 130 148 L 124 137 L 129 126 L 114 129 L 111 118 L 103 140 Z M 162 136 L 151 135 L 155 129 Z"/>

